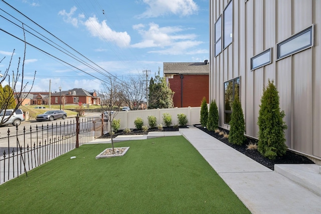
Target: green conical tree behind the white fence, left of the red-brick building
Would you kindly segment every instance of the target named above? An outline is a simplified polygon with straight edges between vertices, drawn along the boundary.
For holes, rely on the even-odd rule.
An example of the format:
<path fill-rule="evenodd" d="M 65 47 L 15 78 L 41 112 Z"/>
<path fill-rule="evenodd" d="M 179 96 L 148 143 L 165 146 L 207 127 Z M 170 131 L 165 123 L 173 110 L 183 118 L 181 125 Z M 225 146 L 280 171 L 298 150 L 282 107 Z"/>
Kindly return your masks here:
<path fill-rule="evenodd" d="M 148 109 L 173 108 L 173 96 L 174 92 L 167 85 L 165 78 L 159 76 L 158 69 L 158 75 L 149 82 Z"/>

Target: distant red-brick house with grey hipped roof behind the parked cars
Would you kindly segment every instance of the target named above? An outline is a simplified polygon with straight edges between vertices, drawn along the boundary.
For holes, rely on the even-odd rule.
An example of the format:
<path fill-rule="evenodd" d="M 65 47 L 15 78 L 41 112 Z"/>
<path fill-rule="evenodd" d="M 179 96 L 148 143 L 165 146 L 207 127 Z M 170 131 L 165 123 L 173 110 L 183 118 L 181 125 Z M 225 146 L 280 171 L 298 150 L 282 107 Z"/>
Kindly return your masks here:
<path fill-rule="evenodd" d="M 82 88 L 59 91 L 51 94 L 52 105 L 100 105 L 96 92 L 90 93 Z"/>

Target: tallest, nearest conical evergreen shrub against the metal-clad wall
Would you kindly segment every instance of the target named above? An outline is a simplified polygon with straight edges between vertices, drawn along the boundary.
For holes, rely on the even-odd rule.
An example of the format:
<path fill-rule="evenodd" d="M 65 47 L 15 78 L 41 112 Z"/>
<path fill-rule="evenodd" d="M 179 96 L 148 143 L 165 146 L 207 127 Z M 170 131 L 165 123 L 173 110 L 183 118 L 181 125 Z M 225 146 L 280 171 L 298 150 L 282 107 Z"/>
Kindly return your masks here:
<path fill-rule="evenodd" d="M 274 86 L 274 81 L 268 80 L 266 88 L 263 89 L 259 117 L 258 151 L 269 159 L 282 156 L 286 153 L 285 133 L 287 129 L 283 118 L 284 111 L 280 111 L 278 91 Z"/>

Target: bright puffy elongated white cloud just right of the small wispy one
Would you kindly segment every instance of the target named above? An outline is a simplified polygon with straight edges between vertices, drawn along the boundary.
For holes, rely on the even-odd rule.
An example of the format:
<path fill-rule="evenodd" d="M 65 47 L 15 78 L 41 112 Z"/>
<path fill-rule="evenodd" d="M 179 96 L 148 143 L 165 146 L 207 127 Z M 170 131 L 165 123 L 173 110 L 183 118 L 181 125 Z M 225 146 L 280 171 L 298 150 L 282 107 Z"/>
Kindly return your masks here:
<path fill-rule="evenodd" d="M 119 47 L 127 47 L 130 44 L 130 36 L 127 32 L 116 32 L 113 31 L 107 24 L 106 21 L 99 23 L 97 18 L 90 17 L 84 22 L 87 30 L 91 33 L 92 36 L 98 37 L 103 41 L 116 43 Z"/>

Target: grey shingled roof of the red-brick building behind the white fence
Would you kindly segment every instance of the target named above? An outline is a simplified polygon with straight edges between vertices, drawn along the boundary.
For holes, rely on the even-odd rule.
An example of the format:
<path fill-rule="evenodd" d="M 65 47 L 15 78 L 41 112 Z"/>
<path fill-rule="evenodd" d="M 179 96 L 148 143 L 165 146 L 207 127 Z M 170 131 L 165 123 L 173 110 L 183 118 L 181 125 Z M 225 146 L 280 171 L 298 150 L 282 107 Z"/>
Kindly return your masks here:
<path fill-rule="evenodd" d="M 164 74 L 209 74 L 210 65 L 203 63 L 163 63 Z"/>

